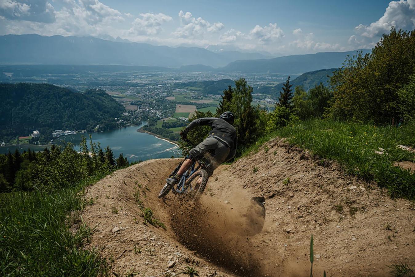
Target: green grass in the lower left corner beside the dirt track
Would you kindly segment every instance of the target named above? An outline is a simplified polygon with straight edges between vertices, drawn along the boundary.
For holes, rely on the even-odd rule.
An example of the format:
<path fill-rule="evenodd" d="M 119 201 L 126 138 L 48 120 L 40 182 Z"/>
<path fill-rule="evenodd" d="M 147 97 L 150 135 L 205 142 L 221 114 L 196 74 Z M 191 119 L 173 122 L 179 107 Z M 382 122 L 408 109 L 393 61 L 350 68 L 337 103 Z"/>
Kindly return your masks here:
<path fill-rule="evenodd" d="M 105 174 L 73 188 L 54 192 L 0 194 L 0 275 L 95 276 L 107 272 L 98 253 L 83 249 L 91 230 L 81 221 L 87 205 L 82 188 Z M 78 228 L 71 229 L 73 224 Z"/>

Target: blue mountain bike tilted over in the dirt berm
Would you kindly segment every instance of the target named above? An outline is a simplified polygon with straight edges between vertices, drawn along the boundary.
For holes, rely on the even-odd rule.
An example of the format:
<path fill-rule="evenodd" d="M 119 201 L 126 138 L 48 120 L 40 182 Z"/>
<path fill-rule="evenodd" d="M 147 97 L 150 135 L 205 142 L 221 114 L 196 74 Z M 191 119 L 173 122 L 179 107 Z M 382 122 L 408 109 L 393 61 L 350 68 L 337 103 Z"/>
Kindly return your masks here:
<path fill-rule="evenodd" d="M 189 140 L 183 138 L 184 141 L 188 142 L 189 145 L 193 145 Z M 188 158 L 188 156 L 183 160 L 183 162 Z M 181 162 L 178 166 L 171 172 L 168 177 L 174 176 L 180 169 Z M 190 165 L 189 169 L 181 177 L 180 181 L 177 184 L 171 186 L 166 183 L 159 193 L 159 198 L 164 198 L 170 191 L 173 194 L 182 194 L 187 195 L 190 199 L 197 200 L 205 191 L 207 180 L 209 179 L 209 172 L 212 169 L 212 165 L 208 159 L 199 157 Z"/>

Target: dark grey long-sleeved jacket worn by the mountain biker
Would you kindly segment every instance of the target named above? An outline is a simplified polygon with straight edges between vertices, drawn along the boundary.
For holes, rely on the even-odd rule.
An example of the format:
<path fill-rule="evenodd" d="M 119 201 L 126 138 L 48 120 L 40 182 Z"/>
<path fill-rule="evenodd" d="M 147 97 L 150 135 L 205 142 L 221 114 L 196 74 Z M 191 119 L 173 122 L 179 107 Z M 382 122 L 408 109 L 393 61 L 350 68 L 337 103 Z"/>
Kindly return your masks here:
<path fill-rule="evenodd" d="M 230 148 L 227 161 L 235 156 L 237 148 L 237 135 L 235 128 L 221 118 L 198 118 L 190 122 L 185 128 L 185 132 L 193 129 L 196 126 L 210 126 L 212 130 L 209 137 L 215 137 L 217 140 L 225 143 Z"/>

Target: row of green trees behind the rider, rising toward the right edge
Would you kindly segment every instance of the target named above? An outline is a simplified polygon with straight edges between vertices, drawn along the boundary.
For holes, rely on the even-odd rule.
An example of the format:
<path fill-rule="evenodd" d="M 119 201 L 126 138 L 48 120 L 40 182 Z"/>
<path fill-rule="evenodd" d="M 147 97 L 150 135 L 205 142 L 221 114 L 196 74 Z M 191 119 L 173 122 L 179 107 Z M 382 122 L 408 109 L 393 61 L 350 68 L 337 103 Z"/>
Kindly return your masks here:
<path fill-rule="evenodd" d="M 332 118 L 398 126 L 415 121 L 415 30 L 391 29 L 371 53 L 348 56 L 343 66 L 322 83 L 306 91 L 292 88 L 290 77 L 272 113 L 252 105 L 252 87 L 244 78 L 223 91 L 215 115 L 196 112 L 196 118 L 219 116 L 229 110 L 235 115 L 240 155 L 259 137 L 288 124 L 310 118 Z M 210 128 L 199 126 L 188 134 L 195 144 Z M 183 145 L 186 143 L 183 142 Z"/>

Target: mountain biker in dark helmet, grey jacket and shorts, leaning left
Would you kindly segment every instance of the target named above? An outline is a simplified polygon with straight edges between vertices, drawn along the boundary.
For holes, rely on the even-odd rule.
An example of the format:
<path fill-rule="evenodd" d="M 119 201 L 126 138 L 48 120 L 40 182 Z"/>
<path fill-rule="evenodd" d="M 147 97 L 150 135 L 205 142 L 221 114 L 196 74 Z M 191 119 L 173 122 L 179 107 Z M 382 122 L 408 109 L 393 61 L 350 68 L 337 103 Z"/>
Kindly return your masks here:
<path fill-rule="evenodd" d="M 213 170 L 220 164 L 232 159 L 237 148 L 237 135 L 235 128 L 232 126 L 233 123 L 234 115 L 227 111 L 222 113 L 219 118 L 198 118 L 187 125 L 180 133 L 183 138 L 186 138 L 187 133 L 196 126 L 210 126 L 212 130 L 203 142 L 200 142 L 189 151 L 187 159 L 183 162 L 176 175 L 166 180 L 167 183 L 171 186 L 177 184 L 190 165 L 208 150 L 215 150 L 210 163 L 213 168 L 208 172 L 209 176 L 212 175 Z"/>

